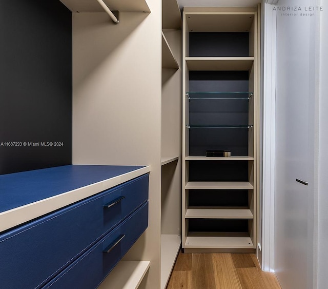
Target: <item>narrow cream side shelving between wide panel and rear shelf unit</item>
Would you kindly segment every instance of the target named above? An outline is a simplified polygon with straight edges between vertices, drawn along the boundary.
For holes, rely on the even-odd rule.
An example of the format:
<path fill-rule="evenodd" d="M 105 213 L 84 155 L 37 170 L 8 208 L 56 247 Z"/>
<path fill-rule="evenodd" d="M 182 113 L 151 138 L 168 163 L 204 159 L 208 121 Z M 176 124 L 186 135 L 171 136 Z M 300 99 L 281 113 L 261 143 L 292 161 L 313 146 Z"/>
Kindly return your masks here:
<path fill-rule="evenodd" d="M 181 12 L 162 2 L 162 191 L 160 288 L 165 289 L 181 247 Z"/>

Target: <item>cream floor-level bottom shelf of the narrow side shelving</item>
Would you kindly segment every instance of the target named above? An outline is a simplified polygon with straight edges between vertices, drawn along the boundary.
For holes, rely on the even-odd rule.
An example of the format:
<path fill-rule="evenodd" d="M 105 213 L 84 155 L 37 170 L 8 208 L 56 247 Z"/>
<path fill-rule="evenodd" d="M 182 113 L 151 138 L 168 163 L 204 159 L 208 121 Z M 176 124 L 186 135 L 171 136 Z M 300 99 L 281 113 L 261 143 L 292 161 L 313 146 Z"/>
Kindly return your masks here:
<path fill-rule="evenodd" d="M 160 288 L 165 289 L 181 246 L 180 235 L 160 236 Z"/>

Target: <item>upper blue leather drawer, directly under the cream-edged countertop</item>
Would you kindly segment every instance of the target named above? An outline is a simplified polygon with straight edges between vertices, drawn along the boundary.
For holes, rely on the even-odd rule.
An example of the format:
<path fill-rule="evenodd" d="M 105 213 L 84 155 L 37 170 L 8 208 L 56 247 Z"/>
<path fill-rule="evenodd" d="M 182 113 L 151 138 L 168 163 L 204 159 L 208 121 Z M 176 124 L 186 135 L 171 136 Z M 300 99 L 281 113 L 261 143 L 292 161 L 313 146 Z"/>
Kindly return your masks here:
<path fill-rule="evenodd" d="M 44 285 L 147 199 L 144 175 L 0 235 L 0 288 Z"/>

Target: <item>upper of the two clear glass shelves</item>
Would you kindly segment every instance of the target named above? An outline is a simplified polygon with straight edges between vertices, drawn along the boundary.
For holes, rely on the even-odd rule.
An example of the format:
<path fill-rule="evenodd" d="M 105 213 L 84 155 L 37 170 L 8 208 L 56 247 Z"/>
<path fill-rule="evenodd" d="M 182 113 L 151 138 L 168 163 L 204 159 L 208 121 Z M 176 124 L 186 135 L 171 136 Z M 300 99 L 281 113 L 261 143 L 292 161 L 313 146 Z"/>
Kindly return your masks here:
<path fill-rule="evenodd" d="M 189 100 L 249 100 L 253 92 L 186 92 Z"/>

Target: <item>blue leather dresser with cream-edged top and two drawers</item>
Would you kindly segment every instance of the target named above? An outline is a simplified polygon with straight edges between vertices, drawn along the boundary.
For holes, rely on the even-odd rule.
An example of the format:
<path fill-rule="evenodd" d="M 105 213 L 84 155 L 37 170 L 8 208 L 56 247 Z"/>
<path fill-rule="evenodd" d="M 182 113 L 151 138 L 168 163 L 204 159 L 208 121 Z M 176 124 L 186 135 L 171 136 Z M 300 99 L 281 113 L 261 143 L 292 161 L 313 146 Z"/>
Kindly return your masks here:
<path fill-rule="evenodd" d="M 122 168 L 128 171 L 122 174 Z M 48 185 L 55 186 L 57 193 L 47 188 L 46 170 L 52 171 Z M 91 194 L 0 233 L 0 288 L 96 288 L 148 226 L 148 173 L 144 174 L 145 171 L 143 167 L 73 165 L 0 176 L 0 201 L 10 190 L 12 195 L 19 195 L 16 191 L 19 188 L 31 194 L 34 203 L 29 203 L 29 196 L 23 194 L 22 209 L 33 204 L 38 206 L 38 199 L 45 200 L 42 199 L 45 195 L 55 202 L 60 196 L 78 195 L 79 190 L 87 189 Z M 132 179 L 120 183 L 129 178 Z M 25 185 L 19 183 L 22 179 Z M 99 183 L 119 184 L 94 193 L 92 187 L 98 189 Z M 40 184 L 44 189 L 37 198 Z M 35 189 L 34 194 L 31 187 Z M 4 189 L 6 192 L 2 194 Z M 13 198 L 13 202 L 19 201 Z M 6 208 L 9 203 L 10 200 L 3 202 Z M 6 216 L 5 213 L 1 214 Z"/>

